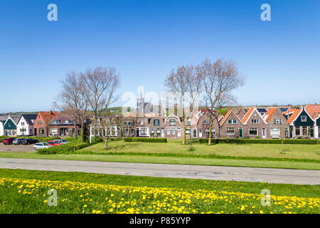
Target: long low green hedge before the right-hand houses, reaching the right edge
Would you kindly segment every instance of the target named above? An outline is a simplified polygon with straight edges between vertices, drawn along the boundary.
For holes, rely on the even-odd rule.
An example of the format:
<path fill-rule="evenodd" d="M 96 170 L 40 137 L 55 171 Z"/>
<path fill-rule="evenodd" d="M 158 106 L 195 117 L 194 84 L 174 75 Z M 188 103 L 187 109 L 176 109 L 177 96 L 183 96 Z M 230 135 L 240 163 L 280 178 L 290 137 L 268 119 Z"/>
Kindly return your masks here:
<path fill-rule="evenodd" d="M 212 144 L 217 143 L 254 143 L 254 144 L 281 144 L 282 140 L 262 140 L 262 139 L 212 139 Z M 208 138 L 199 140 L 200 143 L 208 143 Z M 316 145 L 317 140 L 283 140 L 284 144 L 304 144 L 304 145 Z"/>

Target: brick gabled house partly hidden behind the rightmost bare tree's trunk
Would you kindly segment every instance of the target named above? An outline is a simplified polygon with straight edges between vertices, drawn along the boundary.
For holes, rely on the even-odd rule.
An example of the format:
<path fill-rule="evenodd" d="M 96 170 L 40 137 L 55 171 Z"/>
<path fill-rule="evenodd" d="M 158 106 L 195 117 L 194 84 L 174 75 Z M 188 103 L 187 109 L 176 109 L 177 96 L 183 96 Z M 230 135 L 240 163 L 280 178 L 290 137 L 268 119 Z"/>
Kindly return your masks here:
<path fill-rule="evenodd" d="M 216 118 L 215 113 L 207 109 L 203 115 L 198 119 L 197 128 L 198 128 L 198 138 L 209 138 L 210 131 L 210 115 L 213 117 L 213 126 L 212 126 L 212 138 L 220 138 L 220 123 L 218 118 Z M 222 116 L 220 117 L 222 118 Z"/>

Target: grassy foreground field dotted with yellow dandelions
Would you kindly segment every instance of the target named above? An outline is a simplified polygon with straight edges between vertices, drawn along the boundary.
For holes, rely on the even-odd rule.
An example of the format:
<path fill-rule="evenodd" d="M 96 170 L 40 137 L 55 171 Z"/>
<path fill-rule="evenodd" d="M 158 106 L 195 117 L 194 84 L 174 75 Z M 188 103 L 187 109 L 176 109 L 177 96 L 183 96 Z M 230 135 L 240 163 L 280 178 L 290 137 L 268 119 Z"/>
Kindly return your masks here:
<path fill-rule="evenodd" d="M 320 212 L 319 186 L 31 170 L 0 174 L 0 213 Z M 262 189 L 271 192 L 270 206 L 261 204 Z M 56 206 L 50 190 L 57 193 Z"/>

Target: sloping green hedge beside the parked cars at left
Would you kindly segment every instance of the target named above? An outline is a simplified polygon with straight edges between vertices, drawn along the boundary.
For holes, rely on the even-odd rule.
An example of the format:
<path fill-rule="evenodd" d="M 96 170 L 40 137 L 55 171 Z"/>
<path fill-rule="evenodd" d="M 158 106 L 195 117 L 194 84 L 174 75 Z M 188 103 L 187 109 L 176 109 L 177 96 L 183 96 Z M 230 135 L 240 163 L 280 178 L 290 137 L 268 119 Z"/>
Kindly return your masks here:
<path fill-rule="evenodd" d="M 57 153 L 69 154 L 75 152 L 75 150 L 80 150 L 90 145 L 92 144 L 89 142 L 69 142 L 63 145 L 37 150 L 37 153 L 40 155 L 53 155 Z"/>

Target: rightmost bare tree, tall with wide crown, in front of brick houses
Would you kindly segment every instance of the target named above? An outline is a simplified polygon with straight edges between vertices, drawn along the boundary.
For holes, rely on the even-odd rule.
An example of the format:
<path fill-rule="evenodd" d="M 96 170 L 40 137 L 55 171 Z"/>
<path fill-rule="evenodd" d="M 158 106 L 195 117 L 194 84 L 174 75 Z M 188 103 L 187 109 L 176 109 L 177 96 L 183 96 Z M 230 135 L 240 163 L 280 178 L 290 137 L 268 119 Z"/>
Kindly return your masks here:
<path fill-rule="evenodd" d="M 215 63 L 211 63 L 206 58 L 203 63 L 197 66 L 197 72 L 203 84 L 205 99 L 208 100 L 211 110 L 214 110 L 216 106 L 222 107 L 235 102 L 236 98 L 232 92 L 245 82 L 245 79 L 238 72 L 236 63 L 224 58 L 218 58 Z M 211 144 L 214 118 L 210 115 L 209 145 Z"/>

